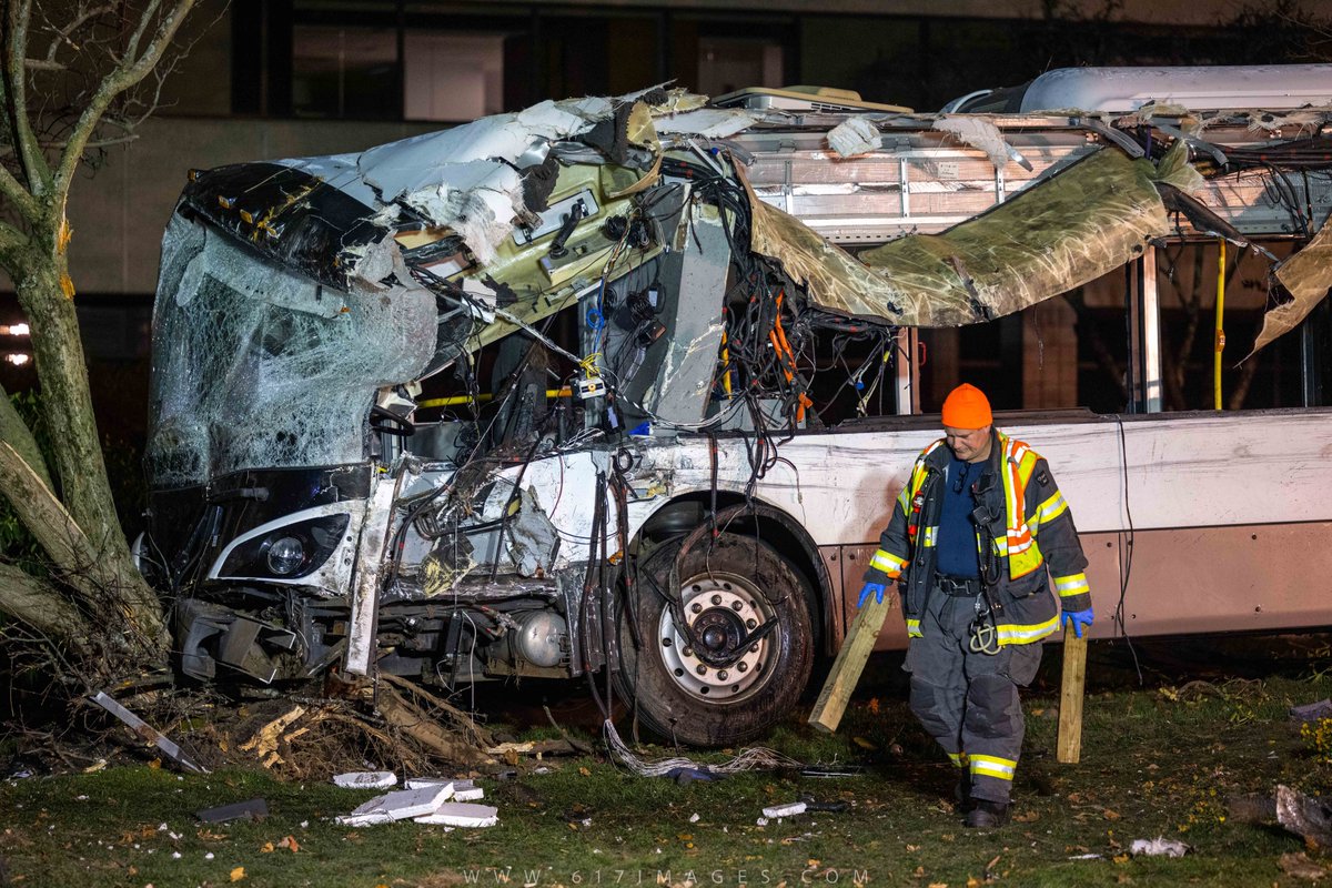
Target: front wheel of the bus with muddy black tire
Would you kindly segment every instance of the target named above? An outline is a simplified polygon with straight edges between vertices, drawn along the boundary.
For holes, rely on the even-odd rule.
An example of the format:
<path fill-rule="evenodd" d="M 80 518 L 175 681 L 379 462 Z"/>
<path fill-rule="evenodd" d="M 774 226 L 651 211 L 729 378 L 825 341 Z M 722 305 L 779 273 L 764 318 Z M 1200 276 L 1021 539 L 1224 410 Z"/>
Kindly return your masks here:
<path fill-rule="evenodd" d="M 634 614 L 619 619 L 621 691 L 662 739 L 690 746 L 750 740 L 777 724 L 809 682 L 813 596 L 771 546 L 734 534 L 695 543 L 673 582 L 681 543 L 671 541 L 639 562 L 646 570 Z M 753 639 L 770 620 L 775 624 Z"/>

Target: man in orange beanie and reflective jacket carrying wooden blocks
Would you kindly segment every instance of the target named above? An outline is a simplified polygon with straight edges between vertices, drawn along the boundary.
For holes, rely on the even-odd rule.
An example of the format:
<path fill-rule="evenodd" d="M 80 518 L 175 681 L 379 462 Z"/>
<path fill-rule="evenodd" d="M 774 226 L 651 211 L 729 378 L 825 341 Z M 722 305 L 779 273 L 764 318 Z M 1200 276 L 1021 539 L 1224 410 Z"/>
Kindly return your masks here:
<path fill-rule="evenodd" d="M 898 580 L 911 711 L 958 767 L 966 825 L 1000 827 L 1022 754 L 1018 688 L 1060 614 L 1078 638 L 1091 626 L 1087 558 L 1050 466 L 994 427 L 984 393 L 954 389 L 943 434 L 911 469 L 859 604 Z"/>

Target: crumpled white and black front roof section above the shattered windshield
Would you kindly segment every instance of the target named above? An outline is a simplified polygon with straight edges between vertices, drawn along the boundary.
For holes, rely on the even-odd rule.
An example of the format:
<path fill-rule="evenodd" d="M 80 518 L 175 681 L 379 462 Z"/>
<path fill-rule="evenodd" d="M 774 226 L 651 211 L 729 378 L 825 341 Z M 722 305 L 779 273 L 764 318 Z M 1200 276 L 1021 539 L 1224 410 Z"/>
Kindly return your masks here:
<path fill-rule="evenodd" d="M 543 101 L 360 154 L 196 172 L 184 201 L 261 253 L 341 289 L 357 274 L 369 244 L 390 232 L 446 229 L 488 265 L 518 224 L 530 226 L 545 209 L 525 184 L 547 166 L 551 150 L 574 149 L 570 165 L 613 162 L 631 185 L 661 152 L 654 116 L 670 132 L 701 136 L 730 134 L 757 118 L 737 109 L 694 111 L 703 97 L 691 99 L 683 91 L 654 89 L 619 99 Z M 705 116 L 693 117 L 697 113 Z M 594 150 L 578 156 L 579 145 Z"/>

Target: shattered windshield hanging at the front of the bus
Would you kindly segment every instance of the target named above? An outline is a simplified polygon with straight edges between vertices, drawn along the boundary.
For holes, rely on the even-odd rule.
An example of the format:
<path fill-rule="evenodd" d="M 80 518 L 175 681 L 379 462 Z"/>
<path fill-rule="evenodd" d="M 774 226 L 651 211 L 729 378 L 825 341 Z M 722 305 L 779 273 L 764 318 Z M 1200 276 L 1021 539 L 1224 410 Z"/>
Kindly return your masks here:
<path fill-rule="evenodd" d="M 177 214 L 153 316 L 152 483 L 364 459 L 376 389 L 414 378 L 434 341 L 425 290 L 340 293 Z"/>

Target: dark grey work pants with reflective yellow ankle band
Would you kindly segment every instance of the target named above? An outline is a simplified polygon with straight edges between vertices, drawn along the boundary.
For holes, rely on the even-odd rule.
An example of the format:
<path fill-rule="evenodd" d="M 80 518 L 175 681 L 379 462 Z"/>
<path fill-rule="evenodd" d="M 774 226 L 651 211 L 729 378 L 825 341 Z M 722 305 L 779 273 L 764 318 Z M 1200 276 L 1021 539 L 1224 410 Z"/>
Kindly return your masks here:
<path fill-rule="evenodd" d="M 903 668 L 911 672 L 911 711 L 959 767 L 971 771 L 971 797 L 1007 803 L 1026 728 L 1018 688 L 1040 667 L 1040 643 L 976 654 L 967 631 L 979 596 L 930 590 Z"/>

